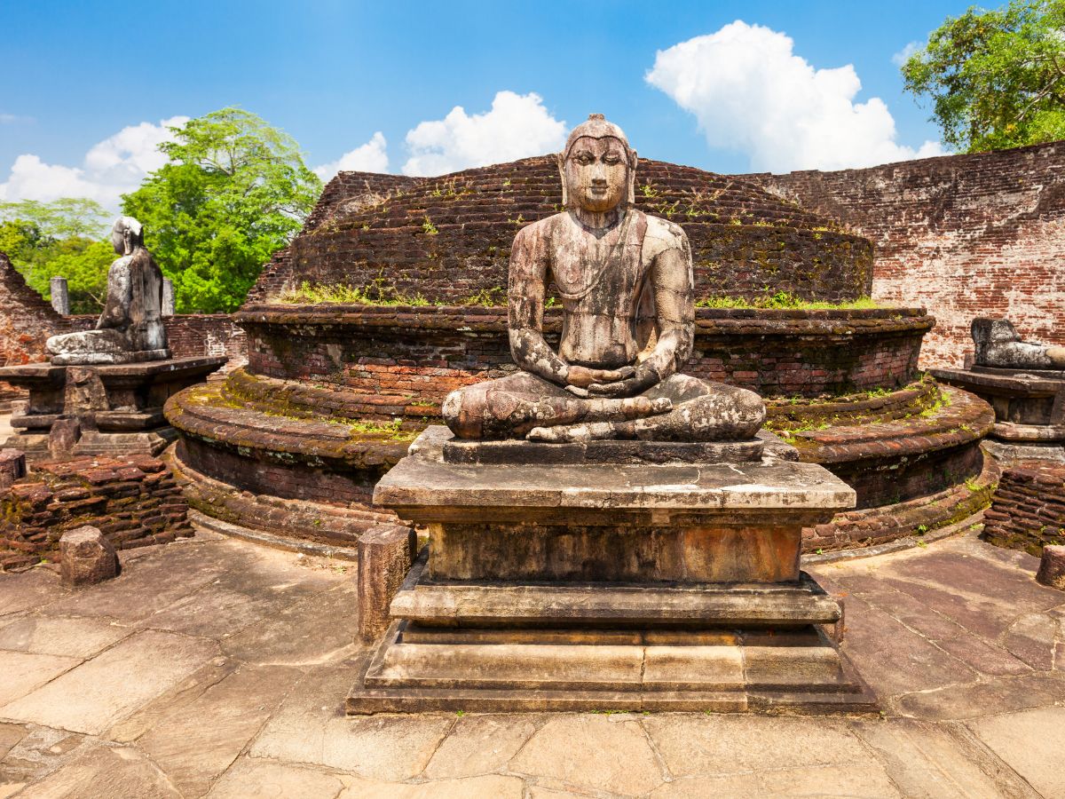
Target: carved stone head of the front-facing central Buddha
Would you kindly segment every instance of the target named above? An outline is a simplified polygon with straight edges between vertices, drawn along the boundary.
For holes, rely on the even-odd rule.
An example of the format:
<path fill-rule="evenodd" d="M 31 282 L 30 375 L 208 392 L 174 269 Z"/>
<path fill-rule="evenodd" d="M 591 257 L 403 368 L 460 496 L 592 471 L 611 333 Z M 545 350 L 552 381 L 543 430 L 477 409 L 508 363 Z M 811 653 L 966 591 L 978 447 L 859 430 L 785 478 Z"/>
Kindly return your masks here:
<path fill-rule="evenodd" d="M 591 114 L 570 133 L 558 154 L 562 205 L 606 213 L 636 201 L 636 150 L 602 114 Z"/>

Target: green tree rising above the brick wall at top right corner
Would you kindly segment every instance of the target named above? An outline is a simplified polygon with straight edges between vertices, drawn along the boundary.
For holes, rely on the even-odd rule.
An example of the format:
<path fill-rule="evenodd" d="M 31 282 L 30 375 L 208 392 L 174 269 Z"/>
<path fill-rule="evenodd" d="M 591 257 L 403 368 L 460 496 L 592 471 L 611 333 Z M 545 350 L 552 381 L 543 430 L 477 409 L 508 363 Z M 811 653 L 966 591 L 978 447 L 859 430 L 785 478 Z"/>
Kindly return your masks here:
<path fill-rule="evenodd" d="M 960 151 L 1065 138 L 1065 0 L 1011 0 L 947 20 L 902 65 Z"/>

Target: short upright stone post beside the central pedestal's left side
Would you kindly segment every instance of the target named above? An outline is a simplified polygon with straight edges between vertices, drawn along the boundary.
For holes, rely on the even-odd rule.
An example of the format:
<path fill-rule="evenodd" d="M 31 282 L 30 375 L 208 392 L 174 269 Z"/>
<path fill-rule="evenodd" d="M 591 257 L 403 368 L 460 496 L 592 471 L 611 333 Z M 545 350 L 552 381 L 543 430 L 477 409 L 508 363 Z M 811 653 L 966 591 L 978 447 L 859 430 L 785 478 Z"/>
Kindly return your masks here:
<path fill-rule="evenodd" d="M 404 524 L 379 524 L 359 538 L 359 638 L 373 642 L 388 629 L 389 605 L 410 571 L 417 536 Z"/>

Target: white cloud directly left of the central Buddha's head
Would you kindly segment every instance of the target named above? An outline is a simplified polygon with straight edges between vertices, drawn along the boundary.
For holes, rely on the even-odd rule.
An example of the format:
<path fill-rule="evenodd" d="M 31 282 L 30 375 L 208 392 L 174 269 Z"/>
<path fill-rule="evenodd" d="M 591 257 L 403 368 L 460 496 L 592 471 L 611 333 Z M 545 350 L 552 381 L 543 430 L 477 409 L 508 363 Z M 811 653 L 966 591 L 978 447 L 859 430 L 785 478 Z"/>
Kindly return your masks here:
<path fill-rule="evenodd" d="M 421 123 L 407 132 L 410 158 L 405 175 L 443 175 L 542 156 L 566 142 L 566 123 L 555 119 L 540 95 L 498 92 L 492 110 L 470 116 L 456 105 L 443 119 Z"/>

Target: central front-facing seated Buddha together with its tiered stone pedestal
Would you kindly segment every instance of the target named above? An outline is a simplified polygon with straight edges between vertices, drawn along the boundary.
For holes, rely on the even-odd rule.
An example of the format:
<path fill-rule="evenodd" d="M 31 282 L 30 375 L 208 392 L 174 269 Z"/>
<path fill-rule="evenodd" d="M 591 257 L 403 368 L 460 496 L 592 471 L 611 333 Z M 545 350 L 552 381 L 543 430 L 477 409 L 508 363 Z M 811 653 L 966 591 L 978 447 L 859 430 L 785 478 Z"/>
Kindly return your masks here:
<path fill-rule="evenodd" d="M 510 260 L 521 371 L 449 394 L 450 430 L 374 488 L 429 545 L 348 713 L 873 707 L 815 626 L 839 605 L 800 569 L 803 527 L 853 489 L 759 431 L 757 394 L 679 373 L 688 241 L 633 207 L 624 133 L 592 115 L 559 166 L 567 210 Z"/>

